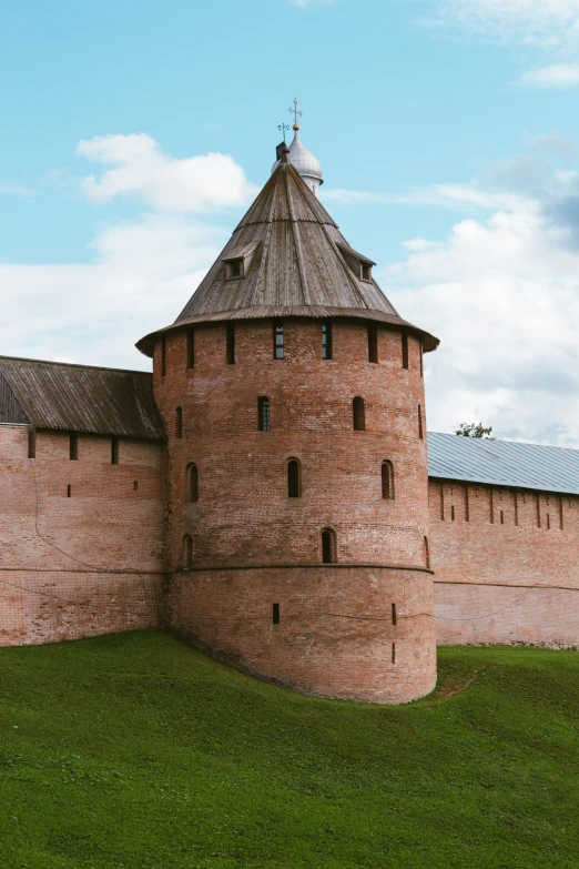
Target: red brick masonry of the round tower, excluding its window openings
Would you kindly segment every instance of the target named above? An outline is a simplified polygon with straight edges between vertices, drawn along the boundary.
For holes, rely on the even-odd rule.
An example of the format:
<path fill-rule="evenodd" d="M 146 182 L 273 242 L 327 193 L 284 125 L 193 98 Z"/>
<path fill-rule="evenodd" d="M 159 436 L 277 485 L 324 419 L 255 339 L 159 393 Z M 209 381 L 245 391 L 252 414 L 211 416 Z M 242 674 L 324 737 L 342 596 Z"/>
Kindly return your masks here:
<path fill-rule="evenodd" d="M 319 321 L 286 321 L 284 326 L 285 357 L 274 360 L 272 322 L 237 322 L 235 364 L 226 363 L 225 324 L 197 326 L 193 368 L 186 365 L 186 334 L 169 333 L 165 376 L 158 343 L 155 397 L 170 432 L 167 557 L 172 570 L 179 572 L 184 537 L 190 535 L 196 568 L 192 574 L 175 573 L 170 597 L 173 624 L 214 649 L 232 651 L 254 671 L 294 678 L 303 689 L 383 703 L 420 696 L 436 678 L 434 629 L 424 625 L 433 614 L 428 573 L 416 572 L 409 597 L 414 610 L 407 614 L 416 629 L 408 627 L 408 618 L 396 665 L 388 664 L 384 650 L 384 643 L 392 645 L 392 628 L 378 637 L 369 617 L 347 622 L 338 655 L 338 623 L 332 623 L 327 641 L 327 627 L 321 624 L 314 655 L 308 615 L 309 608 L 324 610 L 329 603 L 346 613 L 372 616 L 375 583 L 390 600 L 396 584 L 406 587 L 413 576 L 392 570 L 393 578 L 387 579 L 386 566 L 426 565 L 426 442 L 419 436 L 419 406 L 423 434 L 426 422 L 419 344 L 409 336 L 405 370 L 400 333 L 379 329 L 379 362 L 370 363 L 366 325 L 338 321 L 333 327 L 333 358 L 323 360 Z M 271 402 L 270 432 L 257 431 L 260 396 Z M 363 432 L 353 428 L 355 396 L 365 400 Z M 181 438 L 175 436 L 177 407 L 183 414 Z M 286 462 L 292 457 L 301 462 L 299 498 L 287 497 Z M 384 459 L 394 465 L 392 501 L 382 497 Z M 190 463 L 197 467 L 196 503 L 189 498 Z M 336 534 L 339 564 L 357 565 L 347 580 L 346 574 L 336 574 L 341 590 L 334 597 L 332 583 L 319 578 L 321 533 L 326 527 Z M 293 566 L 280 574 L 283 580 L 276 578 L 281 565 Z M 260 569 L 223 572 L 224 567 Z M 290 597 L 273 602 L 270 585 L 288 582 Z M 263 613 L 271 617 L 273 603 L 287 607 L 296 600 L 301 604 L 295 606 L 292 629 L 284 625 L 276 634 L 286 637 L 288 655 L 287 644 L 293 649 L 288 660 L 294 664 L 286 667 L 284 655 L 271 649 L 270 623 L 263 623 L 263 633 L 255 631 Z M 247 618 L 254 619 L 251 633 L 245 631 Z M 377 669 L 369 667 L 373 657 L 379 661 Z"/>

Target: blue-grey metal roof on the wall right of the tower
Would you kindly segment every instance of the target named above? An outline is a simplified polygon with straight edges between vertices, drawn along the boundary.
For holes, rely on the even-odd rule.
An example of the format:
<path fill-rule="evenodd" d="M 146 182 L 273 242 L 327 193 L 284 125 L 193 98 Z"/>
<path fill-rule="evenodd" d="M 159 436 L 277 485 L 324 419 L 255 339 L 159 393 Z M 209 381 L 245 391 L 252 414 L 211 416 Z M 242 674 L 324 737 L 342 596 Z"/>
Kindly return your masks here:
<path fill-rule="evenodd" d="M 579 449 L 430 432 L 428 476 L 579 495 Z"/>

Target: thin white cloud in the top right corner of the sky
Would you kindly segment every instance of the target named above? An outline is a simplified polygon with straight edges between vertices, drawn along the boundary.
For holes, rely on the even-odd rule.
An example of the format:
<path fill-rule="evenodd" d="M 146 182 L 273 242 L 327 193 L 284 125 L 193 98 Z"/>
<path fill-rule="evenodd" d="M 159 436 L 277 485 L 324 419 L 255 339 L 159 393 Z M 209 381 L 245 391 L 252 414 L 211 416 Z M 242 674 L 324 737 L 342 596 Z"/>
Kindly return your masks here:
<path fill-rule="evenodd" d="M 556 47 L 579 39 L 579 0 L 441 0 L 438 23 Z"/>

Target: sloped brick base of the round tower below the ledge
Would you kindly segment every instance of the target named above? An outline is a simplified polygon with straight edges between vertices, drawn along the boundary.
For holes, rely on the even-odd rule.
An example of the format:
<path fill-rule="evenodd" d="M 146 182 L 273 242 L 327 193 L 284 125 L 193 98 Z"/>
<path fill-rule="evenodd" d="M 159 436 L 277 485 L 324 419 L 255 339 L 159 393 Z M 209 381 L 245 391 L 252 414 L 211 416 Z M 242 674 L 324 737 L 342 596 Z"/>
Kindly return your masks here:
<path fill-rule="evenodd" d="M 169 587 L 171 627 L 216 657 L 306 694 L 377 704 L 434 689 L 433 606 L 420 569 L 194 570 Z"/>

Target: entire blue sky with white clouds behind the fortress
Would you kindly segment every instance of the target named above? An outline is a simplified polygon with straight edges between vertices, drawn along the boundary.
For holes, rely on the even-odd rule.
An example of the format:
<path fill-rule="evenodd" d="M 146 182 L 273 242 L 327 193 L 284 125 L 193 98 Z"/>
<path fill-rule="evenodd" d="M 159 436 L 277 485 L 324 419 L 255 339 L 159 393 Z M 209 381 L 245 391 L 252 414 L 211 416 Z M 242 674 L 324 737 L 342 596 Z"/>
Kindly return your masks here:
<path fill-rule="evenodd" d="M 579 445 L 579 0 L 7 7 L 1 353 L 146 367 L 296 95 L 325 204 L 443 340 L 430 427 Z"/>

